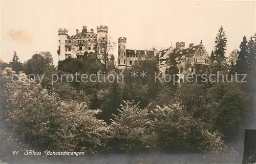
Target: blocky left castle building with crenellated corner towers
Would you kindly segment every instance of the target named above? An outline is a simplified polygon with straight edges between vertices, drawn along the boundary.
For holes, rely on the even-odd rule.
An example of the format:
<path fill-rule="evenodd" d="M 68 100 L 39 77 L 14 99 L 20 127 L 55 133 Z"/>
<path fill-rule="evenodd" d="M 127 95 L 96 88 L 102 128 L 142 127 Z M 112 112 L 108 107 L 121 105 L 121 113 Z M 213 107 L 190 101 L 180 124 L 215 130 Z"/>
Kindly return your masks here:
<path fill-rule="evenodd" d="M 67 29 L 59 29 L 59 46 L 58 46 L 58 60 L 65 60 L 67 58 L 82 58 L 84 52 L 95 52 L 95 45 L 100 38 L 108 37 L 108 26 L 97 26 L 97 32 L 93 29 L 87 30 L 87 26 L 83 26 L 81 32 L 76 30 L 73 36 L 68 35 Z"/>

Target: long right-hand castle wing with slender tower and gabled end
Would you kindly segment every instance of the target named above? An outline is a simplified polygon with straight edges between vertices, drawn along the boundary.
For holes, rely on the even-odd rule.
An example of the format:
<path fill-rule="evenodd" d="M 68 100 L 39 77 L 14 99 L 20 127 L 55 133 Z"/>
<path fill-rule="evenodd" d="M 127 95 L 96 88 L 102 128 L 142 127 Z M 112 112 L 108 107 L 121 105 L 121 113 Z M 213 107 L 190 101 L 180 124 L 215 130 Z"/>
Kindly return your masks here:
<path fill-rule="evenodd" d="M 196 65 L 209 65 L 209 57 L 202 43 L 194 45 L 189 44 L 185 48 L 185 42 L 176 42 L 176 47 L 160 50 L 136 50 L 136 49 L 126 49 L 127 38 L 118 38 L 118 68 L 124 69 L 129 68 L 133 65 L 141 65 L 141 61 L 145 60 L 148 56 L 153 56 L 158 60 L 159 71 L 164 74 L 167 69 L 168 59 L 170 55 L 176 56 L 177 67 L 179 69 L 179 74 L 184 74 L 185 72 L 193 73 L 196 71 Z"/>

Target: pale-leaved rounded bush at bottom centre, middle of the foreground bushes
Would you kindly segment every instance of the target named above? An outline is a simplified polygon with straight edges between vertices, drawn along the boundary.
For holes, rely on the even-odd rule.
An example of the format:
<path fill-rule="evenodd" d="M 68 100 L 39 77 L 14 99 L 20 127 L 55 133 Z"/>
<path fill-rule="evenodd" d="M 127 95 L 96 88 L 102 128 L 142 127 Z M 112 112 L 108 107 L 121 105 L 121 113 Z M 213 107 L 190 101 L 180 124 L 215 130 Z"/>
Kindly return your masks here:
<path fill-rule="evenodd" d="M 120 114 L 115 116 L 111 124 L 113 140 L 121 150 L 155 149 L 157 136 L 152 131 L 152 121 L 147 118 L 147 109 L 141 109 L 138 104 L 125 102 Z"/>

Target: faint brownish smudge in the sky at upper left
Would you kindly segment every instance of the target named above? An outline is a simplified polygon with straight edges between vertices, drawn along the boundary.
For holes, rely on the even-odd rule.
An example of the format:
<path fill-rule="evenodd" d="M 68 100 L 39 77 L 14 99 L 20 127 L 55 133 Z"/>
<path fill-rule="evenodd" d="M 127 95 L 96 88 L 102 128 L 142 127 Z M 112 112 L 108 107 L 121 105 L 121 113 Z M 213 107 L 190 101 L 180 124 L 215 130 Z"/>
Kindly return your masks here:
<path fill-rule="evenodd" d="M 10 30 L 8 36 L 15 42 L 20 44 L 26 44 L 31 42 L 31 36 L 28 32 L 23 30 Z"/>

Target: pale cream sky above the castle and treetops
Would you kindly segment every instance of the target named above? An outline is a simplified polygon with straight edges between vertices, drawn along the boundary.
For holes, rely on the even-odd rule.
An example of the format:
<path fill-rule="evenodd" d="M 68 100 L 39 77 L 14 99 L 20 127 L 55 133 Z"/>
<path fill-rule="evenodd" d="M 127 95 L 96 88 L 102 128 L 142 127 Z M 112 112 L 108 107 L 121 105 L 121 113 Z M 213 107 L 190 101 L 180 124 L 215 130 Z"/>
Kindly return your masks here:
<path fill-rule="evenodd" d="M 177 41 L 199 44 L 208 54 L 222 25 L 227 37 L 228 55 L 239 48 L 243 36 L 256 32 L 253 1 L 2 1 L 1 55 L 9 62 L 16 51 L 20 61 L 35 51 L 50 51 L 57 65 L 57 30 L 69 35 L 83 25 L 96 31 L 107 25 L 109 36 L 117 43 L 126 37 L 127 49 L 157 49 L 175 46 Z M 117 47 L 113 51 L 117 58 Z"/>

